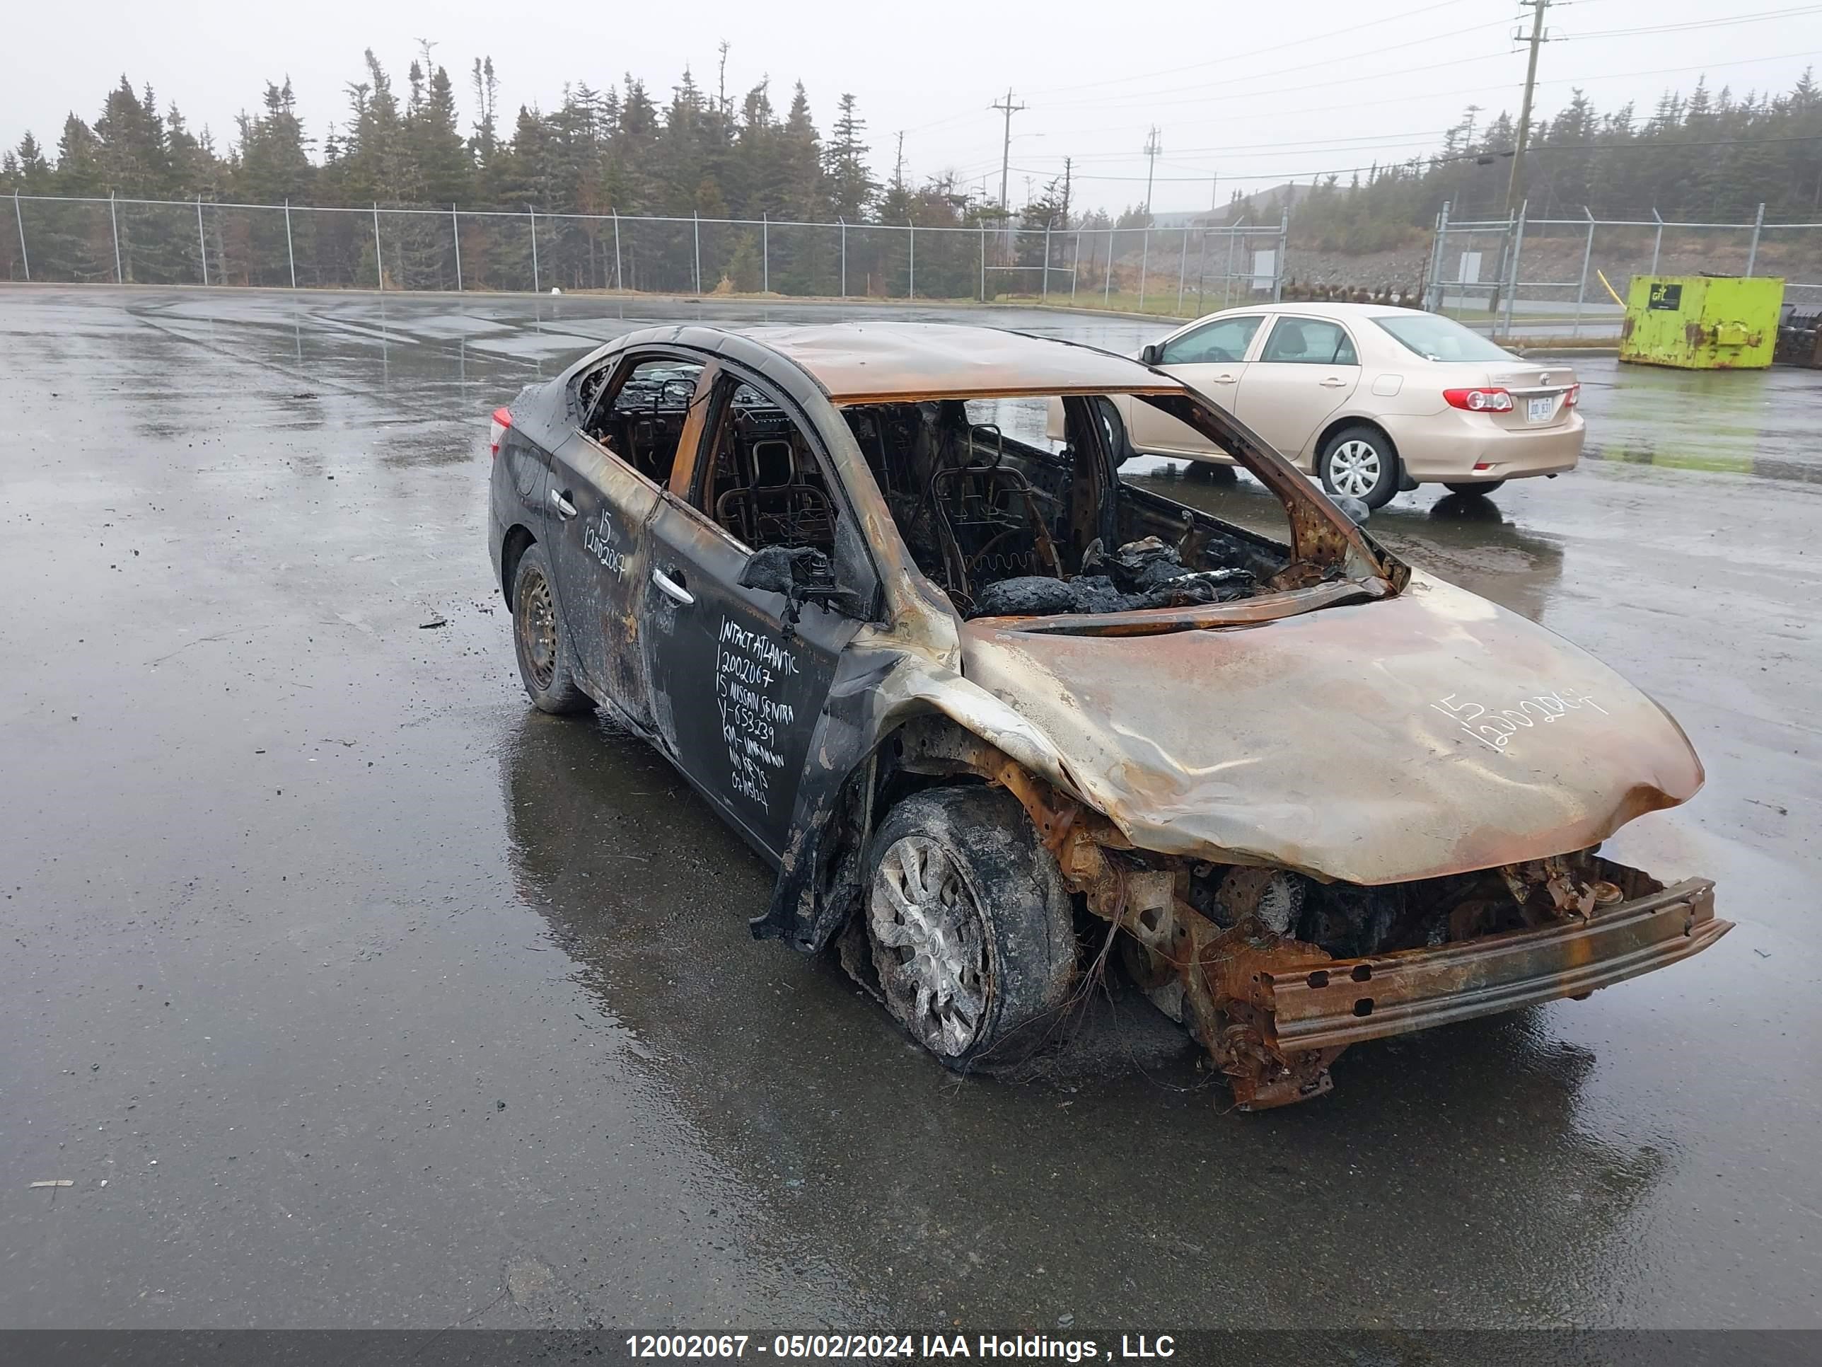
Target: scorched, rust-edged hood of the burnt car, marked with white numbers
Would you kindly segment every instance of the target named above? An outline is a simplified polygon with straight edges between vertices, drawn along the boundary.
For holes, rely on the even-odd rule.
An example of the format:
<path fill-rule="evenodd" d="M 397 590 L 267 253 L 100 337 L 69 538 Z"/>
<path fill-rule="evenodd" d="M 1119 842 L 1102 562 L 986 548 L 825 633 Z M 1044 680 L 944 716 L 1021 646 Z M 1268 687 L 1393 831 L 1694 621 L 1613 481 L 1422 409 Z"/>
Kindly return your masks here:
<path fill-rule="evenodd" d="M 1139 848 L 1379 884 L 1581 849 L 1702 762 L 1607 665 L 1423 574 L 1397 598 L 1159 636 L 962 629 L 964 676 Z"/>

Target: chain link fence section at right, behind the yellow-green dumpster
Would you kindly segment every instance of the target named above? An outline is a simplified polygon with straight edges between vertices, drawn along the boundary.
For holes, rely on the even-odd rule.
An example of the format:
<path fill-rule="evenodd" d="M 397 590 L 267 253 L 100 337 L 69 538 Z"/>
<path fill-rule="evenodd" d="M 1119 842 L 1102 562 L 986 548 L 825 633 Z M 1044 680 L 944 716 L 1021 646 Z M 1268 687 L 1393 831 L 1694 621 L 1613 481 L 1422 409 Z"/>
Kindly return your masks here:
<path fill-rule="evenodd" d="M 1649 219 L 1436 221 L 1425 306 L 1503 337 L 1618 337 L 1634 275 L 1776 275 L 1784 301 L 1822 304 L 1822 222 Z M 1611 293 L 1609 293 L 1611 290 Z"/>

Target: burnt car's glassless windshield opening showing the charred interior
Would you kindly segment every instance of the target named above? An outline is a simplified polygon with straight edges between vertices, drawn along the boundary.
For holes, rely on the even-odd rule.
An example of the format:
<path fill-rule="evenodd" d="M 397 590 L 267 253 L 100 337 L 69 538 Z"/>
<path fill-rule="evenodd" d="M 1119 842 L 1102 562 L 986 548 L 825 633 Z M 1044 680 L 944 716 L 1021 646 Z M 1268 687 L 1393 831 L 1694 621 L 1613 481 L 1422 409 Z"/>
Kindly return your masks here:
<path fill-rule="evenodd" d="M 1326 578 L 1277 541 L 1121 483 L 1102 457 L 1108 401 L 1064 405 L 1059 452 L 962 399 L 844 410 L 913 560 L 962 616 L 1193 607 Z"/>

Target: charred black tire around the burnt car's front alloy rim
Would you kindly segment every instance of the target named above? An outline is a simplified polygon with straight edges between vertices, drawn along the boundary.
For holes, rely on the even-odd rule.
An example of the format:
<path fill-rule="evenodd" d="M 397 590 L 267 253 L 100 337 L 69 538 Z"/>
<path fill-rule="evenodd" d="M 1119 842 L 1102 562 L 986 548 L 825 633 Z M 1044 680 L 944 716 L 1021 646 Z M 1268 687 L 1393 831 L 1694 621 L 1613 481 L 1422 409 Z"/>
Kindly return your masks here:
<path fill-rule="evenodd" d="M 966 888 L 980 926 L 984 1004 L 966 1041 L 933 1041 L 927 1017 L 906 992 L 904 944 L 882 935 L 895 906 L 889 879 L 895 851 L 935 846 Z M 1018 800 L 998 787 L 933 787 L 913 793 L 880 824 L 869 849 L 871 879 L 860 910 L 887 1012 L 944 1066 L 997 1072 L 1031 1057 L 1051 1033 L 1077 975 L 1070 893 L 1057 860 L 1039 842 Z"/>

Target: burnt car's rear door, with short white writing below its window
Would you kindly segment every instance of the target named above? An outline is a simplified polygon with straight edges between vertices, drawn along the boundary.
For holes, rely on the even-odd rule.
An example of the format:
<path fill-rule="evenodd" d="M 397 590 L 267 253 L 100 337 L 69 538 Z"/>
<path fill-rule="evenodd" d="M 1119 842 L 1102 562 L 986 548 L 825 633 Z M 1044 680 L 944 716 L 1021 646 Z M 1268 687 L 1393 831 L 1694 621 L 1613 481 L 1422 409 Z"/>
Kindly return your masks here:
<path fill-rule="evenodd" d="M 701 361 L 634 352 L 609 361 L 576 430 L 550 461 L 552 567 L 576 656 L 590 689 L 650 725 L 638 612 L 645 529 L 670 479 Z"/>

